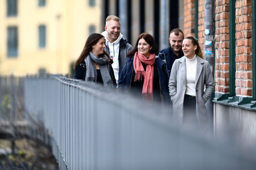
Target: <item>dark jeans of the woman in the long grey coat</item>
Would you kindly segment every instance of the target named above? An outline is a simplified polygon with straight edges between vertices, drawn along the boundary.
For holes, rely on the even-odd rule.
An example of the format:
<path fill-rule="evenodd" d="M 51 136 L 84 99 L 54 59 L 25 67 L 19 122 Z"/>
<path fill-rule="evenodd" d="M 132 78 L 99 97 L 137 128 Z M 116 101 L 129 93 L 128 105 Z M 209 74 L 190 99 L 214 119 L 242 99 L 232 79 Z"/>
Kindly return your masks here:
<path fill-rule="evenodd" d="M 185 94 L 183 102 L 183 123 L 188 126 L 199 127 L 196 118 L 196 98 Z"/>

